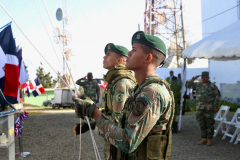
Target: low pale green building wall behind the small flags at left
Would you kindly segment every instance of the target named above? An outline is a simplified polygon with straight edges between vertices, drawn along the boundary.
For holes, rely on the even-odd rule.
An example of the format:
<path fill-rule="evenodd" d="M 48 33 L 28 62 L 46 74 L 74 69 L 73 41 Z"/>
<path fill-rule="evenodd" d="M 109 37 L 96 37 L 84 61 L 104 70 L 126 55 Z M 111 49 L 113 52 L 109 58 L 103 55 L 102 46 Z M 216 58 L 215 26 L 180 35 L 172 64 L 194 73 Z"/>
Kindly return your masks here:
<path fill-rule="evenodd" d="M 41 94 L 37 97 L 34 97 L 30 94 L 30 97 L 27 94 L 24 94 L 24 103 L 36 105 L 36 106 L 43 106 L 43 101 L 51 100 L 54 97 L 54 91 L 45 91 L 44 94 Z"/>

